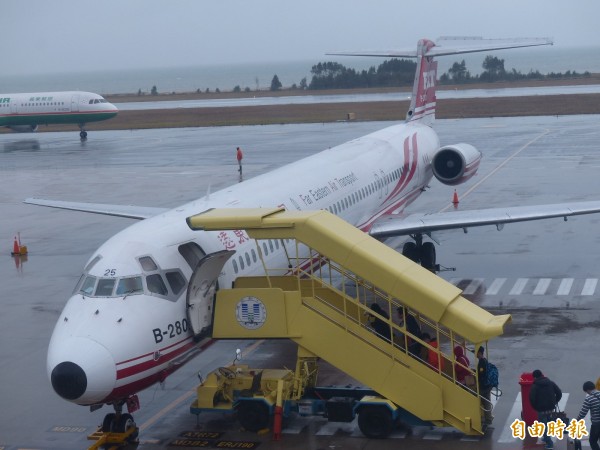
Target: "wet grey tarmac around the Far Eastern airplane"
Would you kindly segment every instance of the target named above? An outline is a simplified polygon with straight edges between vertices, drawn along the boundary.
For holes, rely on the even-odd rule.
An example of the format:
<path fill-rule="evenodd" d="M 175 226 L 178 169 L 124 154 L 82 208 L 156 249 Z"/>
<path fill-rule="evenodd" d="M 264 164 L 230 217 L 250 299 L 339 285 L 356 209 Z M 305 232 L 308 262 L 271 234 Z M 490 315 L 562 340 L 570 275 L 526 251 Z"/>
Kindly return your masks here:
<path fill-rule="evenodd" d="M 439 120 L 442 144 L 468 142 L 484 157 L 476 177 L 457 187 L 458 208 L 534 205 L 600 198 L 598 116 Z M 95 131 L 82 144 L 78 133 L 0 134 L 0 449 L 81 449 L 108 412 L 90 413 L 60 399 L 46 374 L 46 349 L 60 310 L 92 252 L 132 223 L 22 204 L 27 197 L 175 207 L 239 182 L 235 148 L 244 149 L 244 177 L 261 173 L 383 128 L 387 122 Z M 451 207 L 454 188 L 433 181 L 410 211 Z M 169 377 L 163 387 L 140 395 L 136 413 L 140 449 L 170 448 L 191 430 L 221 432 L 231 441 L 257 442 L 260 449 L 523 448 L 506 434 L 520 412 L 519 375 L 539 368 L 567 395 L 573 417 L 583 401 L 583 381 L 600 370 L 590 356 L 600 346 L 600 235 L 598 216 L 553 219 L 444 232 L 438 261 L 455 270 L 443 278 L 465 297 L 494 313 L 509 312 L 507 333 L 490 343 L 503 391 L 494 429 L 483 438 L 434 430 L 399 431 L 393 439 L 369 441 L 355 424 L 298 419 L 283 441 L 240 432 L 232 418 L 189 413 L 197 372 L 231 362 L 241 348 L 246 362 L 289 367 L 283 341 L 220 341 Z M 20 233 L 26 259 L 9 256 Z M 394 242 L 398 245 L 399 242 Z M 293 357 L 293 355 L 292 355 Z M 471 361 L 473 363 L 473 361 Z M 322 382 L 338 382 L 325 371 Z M 354 427 L 354 428 L 353 428 Z M 557 443 L 565 445 L 564 443 Z"/>

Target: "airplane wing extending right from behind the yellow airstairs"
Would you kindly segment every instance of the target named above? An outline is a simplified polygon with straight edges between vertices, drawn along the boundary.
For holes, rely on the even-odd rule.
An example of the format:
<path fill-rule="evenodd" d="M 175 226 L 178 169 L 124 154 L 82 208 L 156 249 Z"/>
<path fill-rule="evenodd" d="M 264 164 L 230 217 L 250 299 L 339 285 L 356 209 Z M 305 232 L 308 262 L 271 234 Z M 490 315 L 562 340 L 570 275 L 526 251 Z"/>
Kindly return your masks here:
<path fill-rule="evenodd" d="M 387 215 L 377 219 L 369 234 L 376 238 L 427 234 L 434 231 L 463 229 L 495 225 L 501 230 L 505 223 L 551 219 L 600 213 L 600 201 L 557 203 L 551 205 L 515 206 L 465 211 L 448 211 L 408 216 Z"/>

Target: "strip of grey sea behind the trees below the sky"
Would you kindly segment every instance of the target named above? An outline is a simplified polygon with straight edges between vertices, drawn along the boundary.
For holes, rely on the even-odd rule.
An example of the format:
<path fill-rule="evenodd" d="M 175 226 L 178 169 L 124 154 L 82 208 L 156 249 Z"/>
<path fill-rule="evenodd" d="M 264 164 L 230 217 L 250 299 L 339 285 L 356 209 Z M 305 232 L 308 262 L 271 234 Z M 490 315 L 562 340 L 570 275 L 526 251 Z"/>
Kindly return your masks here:
<path fill-rule="evenodd" d="M 491 52 L 490 55 L 504 59 L 507 71 L 523 74 L 539 71 L 542 74 L 600 73 L 600 47 L 588 48 L 531 48 Z M 472 75 L 481 73 L 482 63 L 488 53 L 453 55 L 438 59 L 438 77 L 454 64 L 465 60 Z M 190 65 L 187 67 L 154 67 L 140 69 L 106 69 L 69 73 L 45 73 L 36 75 L 0 74 L 0 92 L 50 92 L 65 90 L 91 91 L 103 95 L 150 93 L 156 86 L 160 93 L 195 92 L 207 89 L 214 92 L 232 91 L 236 86 L 245 90 L 269 89 L 275 75 L 284 88 L 300 85 L 306 78 L 310 83 L 311 68 L 319 62 L 335 61 L 357 71 L 377 68 L 390 58 L 323 56 L 318 61 L 278 61 L 220 65 Z"/>

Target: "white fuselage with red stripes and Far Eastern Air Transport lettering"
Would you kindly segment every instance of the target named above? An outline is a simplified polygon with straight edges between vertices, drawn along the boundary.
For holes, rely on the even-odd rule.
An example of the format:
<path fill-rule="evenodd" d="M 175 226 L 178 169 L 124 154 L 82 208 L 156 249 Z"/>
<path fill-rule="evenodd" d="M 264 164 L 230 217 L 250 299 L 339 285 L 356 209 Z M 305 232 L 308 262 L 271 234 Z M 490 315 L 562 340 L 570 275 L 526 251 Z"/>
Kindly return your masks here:
<path fill-rule="evenodd" d="M 203 255 L 236 251 L 219 286 L 264 274 L 256 243 L 243 231 L 192 231 L 187 217 L 215 207 L 327 209 L 368 231 L 378 217 L 401 212 L 419 196 L 439 148 L 427 125 L 391 126 L 119 232 L 92 255 L 56 324 L 47 360 L 54 389 L 90 405 L 164 380 L 196 347 L 186 291 Z M 287 267 L 283 242 L 260 245 L 270 266 Z M 127 290 L 125 283 L 136 287 Z"/>

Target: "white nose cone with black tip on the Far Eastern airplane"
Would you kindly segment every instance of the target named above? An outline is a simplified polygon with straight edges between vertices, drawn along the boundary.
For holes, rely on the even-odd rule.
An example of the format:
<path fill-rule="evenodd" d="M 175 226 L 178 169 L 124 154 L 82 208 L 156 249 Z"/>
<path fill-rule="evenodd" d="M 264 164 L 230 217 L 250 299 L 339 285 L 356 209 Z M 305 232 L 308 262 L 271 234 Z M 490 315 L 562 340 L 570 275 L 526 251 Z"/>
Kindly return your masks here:
<path fill-rule="evenodd" d="M 91 339 L 52 336 L 47 364 L 54 391 L 79 405 L 99 403 L 115 388 L 115 361 Z"/>

